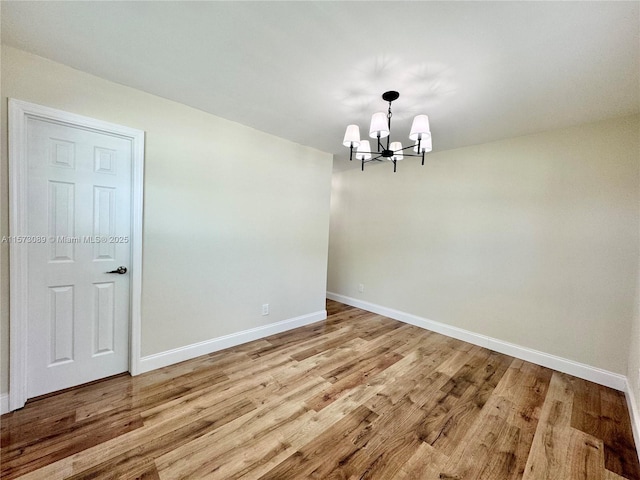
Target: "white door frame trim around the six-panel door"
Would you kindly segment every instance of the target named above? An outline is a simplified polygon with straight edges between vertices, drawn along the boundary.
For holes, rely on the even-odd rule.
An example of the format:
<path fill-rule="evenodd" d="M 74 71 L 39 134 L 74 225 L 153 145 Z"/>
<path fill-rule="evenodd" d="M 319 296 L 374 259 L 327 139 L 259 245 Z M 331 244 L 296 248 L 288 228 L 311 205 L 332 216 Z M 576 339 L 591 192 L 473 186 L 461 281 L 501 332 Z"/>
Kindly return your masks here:
<path fill-rule="evenodd" d="M 140 372 L 142 303 L 142 215 L 144 131 L 103 122 L 54 108 L 9 99 L 9 235 L 28 235 L 27 120 L 36 118 L 60 125 L 131 140 L 131 276 L 129 300 L 129 372 Z M 9 245 L 9 411 L 27 401 L 27 287 L 26 248 Z"/>

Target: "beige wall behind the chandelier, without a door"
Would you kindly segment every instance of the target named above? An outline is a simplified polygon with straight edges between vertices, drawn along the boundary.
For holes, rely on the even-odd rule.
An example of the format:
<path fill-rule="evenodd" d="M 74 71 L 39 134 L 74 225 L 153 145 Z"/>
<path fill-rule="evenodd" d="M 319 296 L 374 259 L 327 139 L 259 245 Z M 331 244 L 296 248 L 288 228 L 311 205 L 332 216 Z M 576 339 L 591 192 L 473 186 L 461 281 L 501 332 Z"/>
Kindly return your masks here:
<path fill-rule="evenodd" d="M 406 159 L 396 174 L 335 173 L 328 290 L 626 375 L 638 126 L 618 118 L 434 153 L 424 167 Z"/>

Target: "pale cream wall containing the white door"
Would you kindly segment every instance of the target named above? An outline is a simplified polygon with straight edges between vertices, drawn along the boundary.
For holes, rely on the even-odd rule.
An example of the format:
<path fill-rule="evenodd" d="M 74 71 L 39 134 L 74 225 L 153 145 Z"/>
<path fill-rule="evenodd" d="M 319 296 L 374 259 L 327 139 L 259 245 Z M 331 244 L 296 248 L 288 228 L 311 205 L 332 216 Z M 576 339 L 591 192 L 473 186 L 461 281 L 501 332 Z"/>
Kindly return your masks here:
<path fill-rule="evenodd" d="M 146 132 L 143 355 L 324 310 L 329 154 L 3 46 L 3 235 L 7 97 Z M 0 252 L 6 392 L 6 245 Z"/>

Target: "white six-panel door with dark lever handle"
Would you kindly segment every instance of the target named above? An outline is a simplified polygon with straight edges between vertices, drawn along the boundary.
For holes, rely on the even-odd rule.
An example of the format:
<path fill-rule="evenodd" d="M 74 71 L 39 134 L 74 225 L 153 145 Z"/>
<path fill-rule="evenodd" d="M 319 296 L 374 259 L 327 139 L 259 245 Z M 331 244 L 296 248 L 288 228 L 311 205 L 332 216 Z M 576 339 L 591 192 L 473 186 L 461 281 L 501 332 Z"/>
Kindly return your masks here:
<path fill-rule="evenodd" d="M 129 272 L 107 272 L 130 268 L 132 144 L 40 118 L 26 130 L 32 398 L 129 368 Z"/>

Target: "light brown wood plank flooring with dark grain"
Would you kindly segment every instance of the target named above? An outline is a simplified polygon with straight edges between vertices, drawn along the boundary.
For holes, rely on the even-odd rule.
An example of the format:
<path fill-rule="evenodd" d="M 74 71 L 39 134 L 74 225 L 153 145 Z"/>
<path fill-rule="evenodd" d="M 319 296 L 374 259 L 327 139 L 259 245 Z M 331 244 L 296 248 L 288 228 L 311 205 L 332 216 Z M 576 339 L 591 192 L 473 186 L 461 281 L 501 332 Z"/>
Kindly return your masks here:
<path fill-rule="evenodd" d="M 624 395 L 336 302 L 27 403 L 3 479 L 640 479 Z"/>

